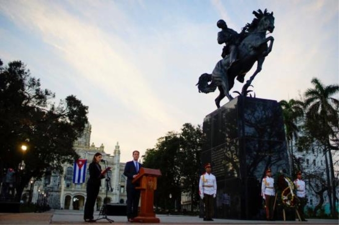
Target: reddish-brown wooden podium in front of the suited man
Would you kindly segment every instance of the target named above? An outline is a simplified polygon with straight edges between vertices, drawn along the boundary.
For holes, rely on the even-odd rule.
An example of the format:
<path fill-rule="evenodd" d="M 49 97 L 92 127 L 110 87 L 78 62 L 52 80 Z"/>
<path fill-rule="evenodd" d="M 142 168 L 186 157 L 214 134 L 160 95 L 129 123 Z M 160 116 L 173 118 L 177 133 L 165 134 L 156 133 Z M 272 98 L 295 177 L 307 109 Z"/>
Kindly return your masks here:
<path fill-rule="evenodd" d="M 141 207 L 138 217 L 133 219 L 137 223 L 160 223 L 154 213 L 154 190 L 157 190 L 157 177 L 161 171 L 156 169 L 140 168 L 139 175 L 132 180 L 132 183 L 140 182 Z"/>

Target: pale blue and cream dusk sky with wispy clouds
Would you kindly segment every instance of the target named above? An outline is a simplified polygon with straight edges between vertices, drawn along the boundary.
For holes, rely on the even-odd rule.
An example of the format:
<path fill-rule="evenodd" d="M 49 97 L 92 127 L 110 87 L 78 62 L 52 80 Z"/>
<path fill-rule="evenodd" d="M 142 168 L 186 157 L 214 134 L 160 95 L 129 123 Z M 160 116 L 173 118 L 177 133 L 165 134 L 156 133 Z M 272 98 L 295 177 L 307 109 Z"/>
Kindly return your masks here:
<path fill-rule="evenodd" d="M 0 59 L 23 61 L 56 102 L 80 99 L 91 142 L 113 154 L 119 141 L 126 162 L 216 109 L 218 92 L 195 86 L 221 59 L 216 22 L 240 32 L 259 8 L 274 12 L 275 41 L 257 98 L 299 98 L 314 77 L 339 83 L 338 0 L 0 0 Z"/>

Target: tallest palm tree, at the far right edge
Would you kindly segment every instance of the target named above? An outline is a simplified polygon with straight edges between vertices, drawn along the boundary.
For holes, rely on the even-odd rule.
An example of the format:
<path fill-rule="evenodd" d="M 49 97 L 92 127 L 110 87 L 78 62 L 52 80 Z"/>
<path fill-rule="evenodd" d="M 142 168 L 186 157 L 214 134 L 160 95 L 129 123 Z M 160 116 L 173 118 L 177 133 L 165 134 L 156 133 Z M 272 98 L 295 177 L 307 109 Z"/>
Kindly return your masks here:
<path fill-rule="evenodd" d="M 332 151 L 338 150 L 338 146 L 332 144 L 331 140 L 336 139 L 338 133 L 338 106 L 339 101 L 332 96 L 339 92 L 338 85 L 325 86 L 322 82 L 313 78 L 311 83 L 314 88 L 310 88 L 305 93 L 305 107 L 307 109 L 306 119 L 308 121 L 321 121 L 322 126 L 319 126 L 315 138 L 319 139 L 324 145 L 325 162 L 327 164 L 327 177 L 330 188 L 328 195 L 330 198 L 331 214 L 334 217 L 336 214 L 336 188 L 334 184 L 334 165 L 332 159 Z M 319 135 L 321 133 L 321 135 Z M 328 155 L 328 156 L 327 156 Z M 328 162 L 328 159 L 329 161 Z M 330 164 L 330 165 L 329 165 Z M 331 176 L 329 174 L 331 170 Z M 333 196 L 332 196 L 333 193 Z M 332 198 L 331 198 L 332 197 Z"/>

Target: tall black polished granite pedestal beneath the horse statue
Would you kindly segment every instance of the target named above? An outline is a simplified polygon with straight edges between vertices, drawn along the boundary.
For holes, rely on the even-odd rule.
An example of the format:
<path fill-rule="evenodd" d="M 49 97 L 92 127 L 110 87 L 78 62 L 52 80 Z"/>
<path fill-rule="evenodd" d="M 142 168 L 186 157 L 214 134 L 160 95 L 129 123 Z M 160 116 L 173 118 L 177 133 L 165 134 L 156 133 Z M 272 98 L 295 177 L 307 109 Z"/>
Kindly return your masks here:
<path fill-rule="evenodd" d="M 237 97 L 204 118 L 202 163 L 217 179 L 216 218 L 265 218 L 261 180 L 289 171 L 282 110 L 277 101 Z"/>

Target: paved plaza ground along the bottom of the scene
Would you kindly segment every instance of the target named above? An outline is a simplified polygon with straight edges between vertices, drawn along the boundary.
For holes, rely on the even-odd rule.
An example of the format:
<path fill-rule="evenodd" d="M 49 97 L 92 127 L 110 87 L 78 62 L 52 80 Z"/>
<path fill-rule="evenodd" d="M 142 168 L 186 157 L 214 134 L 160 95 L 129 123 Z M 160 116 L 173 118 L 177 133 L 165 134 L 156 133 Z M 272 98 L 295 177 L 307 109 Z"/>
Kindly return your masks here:
<path fill-rule="evenodd" d="M 99 212 L 94 215 L 94 219 L 99 217 Z M 240 221 L 240 220 L 223 220 L 214 219 L 213 222 L 202 221 L 198 217 L 189 216 L 171 216 L 171 215 L 157 215 L 160 219 L 160 224 L 177 225 L 204 225 L 204 224 L 230 224 L 230 225 L 338 225 L 338 220 L 318 220 L 309 219 L 307 222 L 298 221 Z M 102 218 L 102 217 L 100 217 Z M 108 216 L 109 219 L 114 220 L 114 224 L 124 225 L 131 224 L 127 222 L 126 217 L 121 216 Z M 83 211 L 70 211 L 70 210 L 51 210 L 45 213 L 19 213 L 9 214 L 0 213 L 0 225 L 89 225 L 83 220 Z M 99 220 L 94 224 L 109 224 L 106 219 Z"/>

